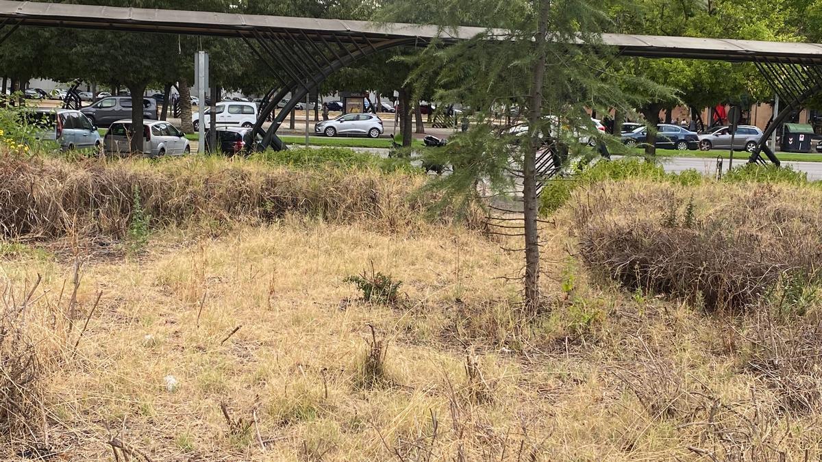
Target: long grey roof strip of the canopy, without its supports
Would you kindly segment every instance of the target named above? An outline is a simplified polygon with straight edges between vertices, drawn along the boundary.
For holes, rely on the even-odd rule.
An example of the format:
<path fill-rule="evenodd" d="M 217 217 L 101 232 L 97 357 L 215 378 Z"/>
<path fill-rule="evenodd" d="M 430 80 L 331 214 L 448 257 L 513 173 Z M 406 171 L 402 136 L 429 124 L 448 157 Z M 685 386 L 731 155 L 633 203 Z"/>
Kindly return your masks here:
<path fill-rule="evenodd" d="M 189 12 L 145 8 L 99 7 L 66 3 L 0 0 L 0 23 L 99 30 L 162 32 L 169 34 L 247 36 L 257 32 L 362 42 L 370 39 L 407 38 L 427 43 L 439 37 L 446 42 L 470 39 L 486 31 L 481 27 L 444 29 L 436 25 L 376 24 L 289 16 Z M 822 64 L 822 44 L 764 42 L 735 39 L 701 39 L 658 35 L 604 34 L 603 44 L 625 56 L 644 58 L 695 58 L 730 62 L 769 59 L 781 62 Z"/>

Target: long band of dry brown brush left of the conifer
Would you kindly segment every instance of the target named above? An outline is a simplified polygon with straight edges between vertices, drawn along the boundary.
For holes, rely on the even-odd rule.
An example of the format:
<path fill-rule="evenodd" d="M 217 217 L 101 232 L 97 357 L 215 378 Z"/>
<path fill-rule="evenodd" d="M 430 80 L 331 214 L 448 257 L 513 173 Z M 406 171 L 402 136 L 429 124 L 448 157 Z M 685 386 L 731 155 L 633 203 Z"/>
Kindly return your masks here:
<path fill-rule="evenodd" d="M 289 169 L 261 161 L 172 159 L 0 159 L 0 235 L 54 238 L 76 224 L 122 237 L 135 188 L 153 225 L 280 219 L 286 214 L 332 222 L 371 219 L 408 226 L 436 200 L 413 195 L 424 178 L 372 170 Z M 449 212 L 443 212 L 445 217 Z"/>

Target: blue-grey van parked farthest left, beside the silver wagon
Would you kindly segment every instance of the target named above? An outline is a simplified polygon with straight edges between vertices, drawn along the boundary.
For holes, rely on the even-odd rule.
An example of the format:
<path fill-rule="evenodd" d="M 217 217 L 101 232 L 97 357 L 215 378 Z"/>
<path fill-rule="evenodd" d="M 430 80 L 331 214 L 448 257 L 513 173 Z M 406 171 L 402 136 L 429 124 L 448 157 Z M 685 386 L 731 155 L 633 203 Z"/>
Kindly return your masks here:
<path fill-rule="evenodd" d="M 80 111 L 72 109 L 37 109 L 23 116 L 28 125 L 37 127 L 37 138 L 57 141 L 61 150 L 100 149 L 97 127 Z"/>

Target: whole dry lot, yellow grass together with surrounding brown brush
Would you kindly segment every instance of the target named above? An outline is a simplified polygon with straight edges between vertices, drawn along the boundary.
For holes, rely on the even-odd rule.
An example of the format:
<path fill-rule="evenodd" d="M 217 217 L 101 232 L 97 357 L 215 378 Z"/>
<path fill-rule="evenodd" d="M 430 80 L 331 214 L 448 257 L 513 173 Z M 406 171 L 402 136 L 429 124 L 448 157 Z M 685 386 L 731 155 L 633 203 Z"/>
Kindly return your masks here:
<path fill-rule="evenodd" d="M 515 241 L 423 219 L 425 199 L 402 200 L 418 176 L 187 159 L 10 165 L 13 178 L 35 173 L 0 187 L 6 460 L 822 455 L 814 188 L 579 188 L 544 225 L 545 310 L 525 316 L 503 278 L 521 268 L 502 249 Z M 240 173 L 242 194 L 196 187 Z M 314 175 L 335 181 L 317 189 Z M 101 186 L 114 184 L 127 186 Z M 148 229 L 128 225 L 133 184 Z M 12 235 L 12 221 L 27 233 Z M 721 236 L 725 247 L 694 256 Z M 668 252 L 679 242 L 691 251 Z M 644 260 L 618 261 L 626 248 Z M 777 258 L 790 248 L 801 252 Z M 687 277 L 704 267 L 726 271 L 723 293 L 768 285 L 744 307 L 711 305 L 696 293 L 713 279 Z M 797 269 L 801 286 L 783 277 Z M 372 271 L 401 281 L 395 300 L 364 301 L 344 281 Z"/>

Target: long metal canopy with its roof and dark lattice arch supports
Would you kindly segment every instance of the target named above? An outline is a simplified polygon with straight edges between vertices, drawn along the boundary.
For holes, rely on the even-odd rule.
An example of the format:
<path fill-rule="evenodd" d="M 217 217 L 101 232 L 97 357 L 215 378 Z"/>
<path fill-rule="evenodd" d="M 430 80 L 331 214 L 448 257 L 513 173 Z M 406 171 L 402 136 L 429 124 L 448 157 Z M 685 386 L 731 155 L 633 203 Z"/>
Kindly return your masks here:
<path fill-rule="evenodd" d="M 442 28 L 436 25 L 0 0 L 0 43 L 21 25 L 243 39 L 270 67 L 280 83 L 266 95 L 255 127 L 256 132 L 265 133 L 266 146 L 275 149 L 284 147 L 276 132 L 286 115 L 309 91 L 339 68 L 385 49 L 426 46 L 434 39 L 442 44 L 454 44 L 489 32 L 482 27 Z M 503 30 L 491 32 L 499 37 L 506 35 Z M 759 152 L 764 150 L 769 159 L 778 164 L 776 156 L 765 145 L 770 133 L 787 114 L 801 108 L 806 99 L 822 90 L 822 44 L 603 34 L 601 46 L 613 47 L 621 56 L 630 57 L 754 62 L 788 105 L 782 117 L 769 122 L 760 148 L 751 155 L 751 161 L 760 160 Z M 292 94 L 289 103 L 279 111 L 269 129 L 263 131 L 262 122 L 289 93 Z"/>

